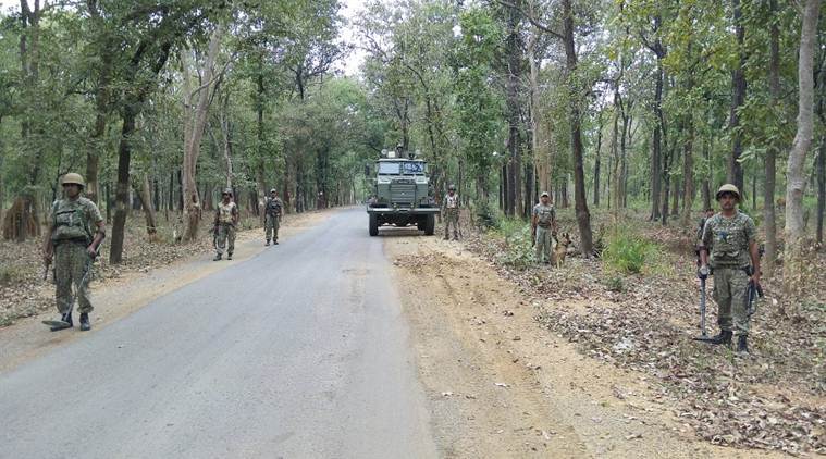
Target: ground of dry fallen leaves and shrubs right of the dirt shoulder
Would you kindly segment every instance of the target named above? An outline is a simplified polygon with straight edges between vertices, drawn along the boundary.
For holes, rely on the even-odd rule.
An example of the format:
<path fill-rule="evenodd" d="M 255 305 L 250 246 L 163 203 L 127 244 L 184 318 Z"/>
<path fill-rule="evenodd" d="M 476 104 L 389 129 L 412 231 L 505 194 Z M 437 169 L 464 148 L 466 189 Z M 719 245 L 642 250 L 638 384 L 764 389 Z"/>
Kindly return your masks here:
<path fill-rule="evenodd" d="M 576 245 L 574 215 L 560 212 L 559 220 Z M 601 220 L 607 219 L 595 219 L 594 227 L 602 227 Z M 826 454 L 826 278 L 811 281 L 811 298 L 794 319 L 778 313 L 778 285 L 764 282 L 766 298 L 751 323 L 751 355 L 738 357 L 692 339 L 700 334 L 692 232 L 632 221 L 619 237 L 611 230 L 596 232 L 595 239 L 605 239 L 607 259 L 569 257 L 559 270 L 522 262 L 530 240 L 514 223 L 484 234 L 466 231 L 466 244 L 546 300 L 538 320 L 548 330 L 593 358 L 655 376 L 657 396 L 670 399 L 675 415 L 700 437 L 735 447 Z M 823 253 L 812 262 L 815 272 L 826 270 Z M 716 305 L 708 284 L 706 325 L 714 334 Z"/>

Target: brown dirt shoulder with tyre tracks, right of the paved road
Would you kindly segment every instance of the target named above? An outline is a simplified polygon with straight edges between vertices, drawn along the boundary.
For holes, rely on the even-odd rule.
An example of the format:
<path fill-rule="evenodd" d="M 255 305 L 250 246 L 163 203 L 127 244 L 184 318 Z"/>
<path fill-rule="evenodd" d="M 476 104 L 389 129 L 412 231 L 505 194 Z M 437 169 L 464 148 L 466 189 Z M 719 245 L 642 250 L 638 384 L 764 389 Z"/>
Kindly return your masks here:
<path fill-rule="evenodd" d="M 580 353 L 458 243 L 389 237 L 445 457 L 779 457 L 701 442 L 641 373 Z"/>

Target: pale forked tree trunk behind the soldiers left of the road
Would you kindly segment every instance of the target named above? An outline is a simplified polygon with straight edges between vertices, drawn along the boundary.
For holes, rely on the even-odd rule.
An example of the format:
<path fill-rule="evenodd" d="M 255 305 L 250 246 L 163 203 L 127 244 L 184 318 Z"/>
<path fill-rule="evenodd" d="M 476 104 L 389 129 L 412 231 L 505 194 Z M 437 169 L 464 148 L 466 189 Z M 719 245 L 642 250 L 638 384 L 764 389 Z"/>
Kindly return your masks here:
<path fill-rule="evenodd" d="M 193 241 L 198 237 L 198 225 L 201 218 L 201 202 L 198 196 L 198 186 L 195 181 L 200 142 L 204 137 L 204 127 L 207 124 L 207 113 L 215 88 L 218 75 L 215 73 L 215 60 L 220 50 L 221 38 L 225 27 L 219 24 L 212 33 L 209 41 L 209 51 L 199 74 L 201 75 L 200 87 L 194 91 L 189 88 L 189 58 L 185 50 L 182 52 L 182 66 L 184 78 L 184 158 L 183 158 L 183 189 L 184 196 L 184 230 L 185 241 Z M 193 99 L 197 97 L 197 103 L 193 107 Z"/>

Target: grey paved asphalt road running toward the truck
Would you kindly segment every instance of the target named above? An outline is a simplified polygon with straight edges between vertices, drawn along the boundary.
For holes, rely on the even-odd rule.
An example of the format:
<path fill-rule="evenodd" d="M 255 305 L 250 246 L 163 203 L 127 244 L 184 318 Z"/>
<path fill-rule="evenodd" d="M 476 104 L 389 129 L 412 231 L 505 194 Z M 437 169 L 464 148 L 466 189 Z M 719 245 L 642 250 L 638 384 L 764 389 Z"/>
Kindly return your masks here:
<path fill-rule="evenodd" d="M 389 264 L 336 212 L 2 374 L 0 458 L 434 457 Z"/>

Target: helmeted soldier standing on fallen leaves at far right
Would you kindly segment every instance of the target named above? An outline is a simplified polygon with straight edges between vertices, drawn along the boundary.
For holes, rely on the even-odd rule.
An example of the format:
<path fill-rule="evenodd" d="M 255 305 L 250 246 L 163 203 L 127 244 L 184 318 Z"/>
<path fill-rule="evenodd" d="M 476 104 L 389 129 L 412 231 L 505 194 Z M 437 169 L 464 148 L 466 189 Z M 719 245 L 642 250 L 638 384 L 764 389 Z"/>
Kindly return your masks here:
<path fill-rule="evenodd" d="M 757 231 L 754 221 L 737 210 L 740 190 L 735 185 L 723 185 L 717 191 L 717 201 L 722 210 L 705 222 L 700 244 L 701 276 L 711 265 L 714 270 L 714 300 L 719 307 L 720 333 L 711 343 L 730 346 L 736 332 L 737 350 L 748 352 L 749 311 L 745 301 L 749 281 L 760 285 Z"/>

